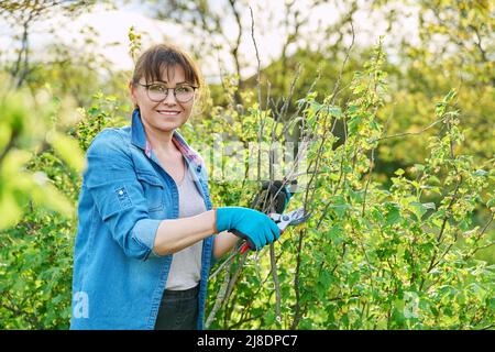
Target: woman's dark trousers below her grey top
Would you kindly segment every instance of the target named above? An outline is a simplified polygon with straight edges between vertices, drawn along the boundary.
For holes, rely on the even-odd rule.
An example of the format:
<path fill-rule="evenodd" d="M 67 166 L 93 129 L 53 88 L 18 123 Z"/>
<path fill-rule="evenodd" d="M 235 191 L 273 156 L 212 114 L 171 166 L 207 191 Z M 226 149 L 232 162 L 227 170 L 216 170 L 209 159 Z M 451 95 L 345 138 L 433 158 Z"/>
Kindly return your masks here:
<path fill-rule="evenodd" d="M 165 289 L 155 330 L 197 330 L 199 284 L 186 290 Z"/>

